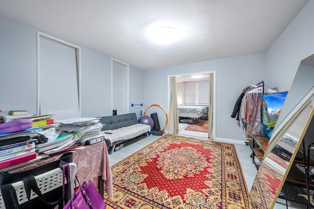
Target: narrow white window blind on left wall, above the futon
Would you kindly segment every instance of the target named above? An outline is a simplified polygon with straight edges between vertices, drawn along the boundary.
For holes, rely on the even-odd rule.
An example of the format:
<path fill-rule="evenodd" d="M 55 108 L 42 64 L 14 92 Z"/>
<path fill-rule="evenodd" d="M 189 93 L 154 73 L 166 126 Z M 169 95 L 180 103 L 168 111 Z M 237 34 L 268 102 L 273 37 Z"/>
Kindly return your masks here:
<path fill-rule="evenodd" d="M 112 108 L 117 114 L 126 112 L 126 65 L 112 61 Z"/>

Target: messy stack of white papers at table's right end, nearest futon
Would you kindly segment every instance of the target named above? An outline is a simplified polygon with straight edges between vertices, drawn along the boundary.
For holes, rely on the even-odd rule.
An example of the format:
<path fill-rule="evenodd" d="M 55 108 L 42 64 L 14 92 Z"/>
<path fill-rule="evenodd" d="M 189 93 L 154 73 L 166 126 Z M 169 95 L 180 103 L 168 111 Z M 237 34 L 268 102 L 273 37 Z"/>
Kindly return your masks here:
<path fill-rule="evenodd" d="M 99 118 L 75 118 L 59 121 L 58 130 L 77 136 L 78 143 L 83 144 L 86 140 L 102 136 L 103 124 Z"/>

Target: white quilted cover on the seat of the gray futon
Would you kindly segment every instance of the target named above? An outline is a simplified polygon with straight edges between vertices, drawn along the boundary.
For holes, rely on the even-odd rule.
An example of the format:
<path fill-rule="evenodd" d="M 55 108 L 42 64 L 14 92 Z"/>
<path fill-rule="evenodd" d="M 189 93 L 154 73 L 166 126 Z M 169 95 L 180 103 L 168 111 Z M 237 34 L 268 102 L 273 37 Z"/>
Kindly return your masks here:
<path fill-rule="evenodd" d="M 149 125 L 135 124 L 122 127 L 120 129 L 102 131 L 102 133 L 105 136 L 105 140 L 109 140 L 110 145 L 112 145 L 113 142 L 131 139 L 148 131 L 151 131 L 151 127 Z"/>

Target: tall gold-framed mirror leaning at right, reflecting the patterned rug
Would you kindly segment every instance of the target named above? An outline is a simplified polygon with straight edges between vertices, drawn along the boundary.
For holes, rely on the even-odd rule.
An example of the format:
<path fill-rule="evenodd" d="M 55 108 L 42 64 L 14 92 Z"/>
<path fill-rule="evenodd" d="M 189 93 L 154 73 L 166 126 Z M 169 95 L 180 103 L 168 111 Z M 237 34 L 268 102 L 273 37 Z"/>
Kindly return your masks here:
<path fill-rule="evenodd" d="M 264 152 L 249 194 L 251 208 L 273 208 L 290 169 L 295 169 L 293 161 L 304 160 L 298 149 L 314 113 L 313 78 L 314 55 L 311 55 L 299 65 Z"/>

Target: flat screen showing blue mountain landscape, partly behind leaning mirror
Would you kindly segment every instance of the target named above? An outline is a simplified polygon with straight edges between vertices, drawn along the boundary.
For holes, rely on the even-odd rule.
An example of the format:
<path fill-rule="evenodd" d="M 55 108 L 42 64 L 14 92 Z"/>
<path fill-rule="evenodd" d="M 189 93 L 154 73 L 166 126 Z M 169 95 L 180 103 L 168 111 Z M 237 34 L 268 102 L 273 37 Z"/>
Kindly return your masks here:
<path fill-rule="evenodd" d="M 261 96 L 261 133 L 268 139 L 275 128 L 288 91 Z"/>

